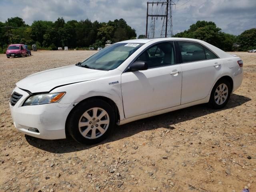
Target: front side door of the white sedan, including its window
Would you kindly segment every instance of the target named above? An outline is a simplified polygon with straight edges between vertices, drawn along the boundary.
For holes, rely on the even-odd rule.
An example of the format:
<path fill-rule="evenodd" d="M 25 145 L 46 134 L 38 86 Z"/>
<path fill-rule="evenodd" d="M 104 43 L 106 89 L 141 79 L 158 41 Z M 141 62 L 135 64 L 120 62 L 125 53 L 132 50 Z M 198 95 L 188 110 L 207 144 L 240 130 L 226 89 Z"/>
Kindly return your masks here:
<path fill-rule="evenodd" d="M 147 62 L 148 70 L 121 76 L 125 118 L 180 105 L 182 73 L 173 42 L 155 44 L 137 60 Z"/>

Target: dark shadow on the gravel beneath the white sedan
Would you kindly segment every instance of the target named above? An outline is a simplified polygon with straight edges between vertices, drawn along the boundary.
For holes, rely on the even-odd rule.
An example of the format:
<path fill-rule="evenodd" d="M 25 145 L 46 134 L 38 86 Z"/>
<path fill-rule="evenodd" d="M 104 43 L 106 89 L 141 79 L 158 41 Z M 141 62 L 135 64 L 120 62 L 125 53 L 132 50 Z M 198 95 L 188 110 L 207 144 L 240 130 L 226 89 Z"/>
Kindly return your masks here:
<path fill-rule="evenodd" d="M 80 150 L 86 150 L 88 148 L 92 148 L 101 144 L 106 144 L 108 142 L 121 140 L 123 138 L 130 137 L 132 135 L 135 135 L 145 130 L 152 130 L 157 128 L 167 128 L 172 130 L 174 129 L 174 127 L 172 126 L 174 124 L 184 122 L 187 120 L 192 120 L 194 118 L 205 116 L 211 113 L 216 113 L 221 110 L 235 108 L 236 106 L 240 106 L 250 100 L 251 100 L 250 98 L 247 98 L 245 96 L 231 94 L 228 104 L 220 110 L 214 110 L 214 109 L 208 108 L 206 104 L 200 104 L 200 105 L 168 112 L 158 116 L 137 120 L 134 122 L 130 122 L 128 124 L 124 124 L 122 126 L 116 126 L 115 130 L 113 131 L 113 134 L 109 138 L 107 138 L 103 142 L 100 142 L 94 145 L 80 144 L 74 141 L 72 138 L 70 138 L 70 136 L 67 139 L 61 139 L 61 140 L 43 140 L 43 139 L 34 138 L 27 135 L 25 137 L 27 142 L 30 145 L 36 148 L 39 148 L 41 150 L 45 150 L 52 153 L 59 153 L 59 154 L 75 152 Z"/>

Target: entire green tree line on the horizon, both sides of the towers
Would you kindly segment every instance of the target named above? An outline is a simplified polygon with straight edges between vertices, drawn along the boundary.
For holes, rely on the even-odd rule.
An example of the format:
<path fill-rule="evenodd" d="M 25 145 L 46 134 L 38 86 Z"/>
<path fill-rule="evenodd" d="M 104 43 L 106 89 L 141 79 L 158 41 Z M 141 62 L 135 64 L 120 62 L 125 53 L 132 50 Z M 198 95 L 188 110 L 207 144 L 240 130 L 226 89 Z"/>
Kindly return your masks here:
<path fill-rule="evenodd" d="M 222 32 L 211 21 L 198 21 L 174 37 L 204 40 L 224 51 L 247 51 L 256 48 L 256 28 L 235 36 Z M 30 49 L 32 44 L 46 50 L 57 50 L 64 46 L 84 49 L 89 46 L 104 47 L 106 40 L 114 43 L 135 38 L 135 29 L 122 18 L 108 22 L 92 22 L 89 19 L 65 22 L 63 18 L 58 18 L 55 22 L 37 20 L 31 26 L 19 17 L 0 22 L 0 53 L 5 52 L 8 44 L 14 43 L 27 44 Z M 139 35 L 138 38 L 146 36 Z"/>

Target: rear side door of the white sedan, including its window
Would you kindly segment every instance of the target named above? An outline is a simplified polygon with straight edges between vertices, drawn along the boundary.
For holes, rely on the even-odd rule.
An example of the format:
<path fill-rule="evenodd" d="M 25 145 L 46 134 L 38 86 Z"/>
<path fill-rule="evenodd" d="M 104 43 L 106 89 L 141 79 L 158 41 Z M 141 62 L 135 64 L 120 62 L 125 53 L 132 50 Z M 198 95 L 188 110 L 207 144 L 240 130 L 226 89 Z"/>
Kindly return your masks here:
<path fill-rule="evenodd" d="M 179 41 L 178 48 L 182 68 L 181 104 L 206 98 L 222 73 L 222 61 L 196 42 Z"/>

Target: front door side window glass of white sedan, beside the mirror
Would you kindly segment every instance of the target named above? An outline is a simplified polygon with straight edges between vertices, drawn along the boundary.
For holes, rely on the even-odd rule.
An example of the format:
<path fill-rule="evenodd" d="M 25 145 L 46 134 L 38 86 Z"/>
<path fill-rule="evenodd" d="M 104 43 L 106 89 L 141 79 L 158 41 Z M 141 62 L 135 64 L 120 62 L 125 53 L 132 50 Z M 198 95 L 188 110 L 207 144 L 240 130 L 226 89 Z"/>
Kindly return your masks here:
<path fill-rule="evenodd" d="M 137 61 L 147 62 L 148 68 L 176 64 L 173 42 L 164 42 L 151 46 L 137 58 Z"/>

